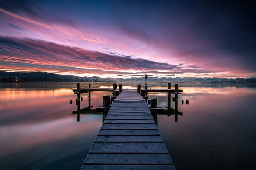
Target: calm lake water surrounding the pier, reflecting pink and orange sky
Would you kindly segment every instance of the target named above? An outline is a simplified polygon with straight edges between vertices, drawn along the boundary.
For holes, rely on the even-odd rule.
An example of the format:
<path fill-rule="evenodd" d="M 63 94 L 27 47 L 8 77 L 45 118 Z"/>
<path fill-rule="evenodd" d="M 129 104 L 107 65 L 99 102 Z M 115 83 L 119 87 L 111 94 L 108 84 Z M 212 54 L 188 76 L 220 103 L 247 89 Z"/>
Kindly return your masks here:
<path fill-rule="evenodd" d="M 137 88 L 137 83 L 122 84 Z M 178 102 L 183 115 L 176 122 L 174 115 L 158 115 L 158 127 L 176 169 L 256 169 L 256 86 L 179 85 L 184 90 Z M 148 86 L 166 88 L 167 83 Z M 77 115 L 71 114 L 77 110 L 76 95 L 70 91 L 75 87 L 76 83 L 0 84 L 0 169 L 81 168 L 102 126 L 102 114 L 93 109 L 111 92 L 91 93 L 92 111 L 80 115 L 77 122 Z M 81 83 L 83 87 L 87 83 Z M 111 83 L 92 83 L 92 88 L 112 87 Z M 81 108 L 85 108 L 88 94 L 81 96 Z M 157 97 L 158 105 L 166 107 L 166 93 L 148 96 Z M 171 105 L 174 108 L 174 102 Z"/>

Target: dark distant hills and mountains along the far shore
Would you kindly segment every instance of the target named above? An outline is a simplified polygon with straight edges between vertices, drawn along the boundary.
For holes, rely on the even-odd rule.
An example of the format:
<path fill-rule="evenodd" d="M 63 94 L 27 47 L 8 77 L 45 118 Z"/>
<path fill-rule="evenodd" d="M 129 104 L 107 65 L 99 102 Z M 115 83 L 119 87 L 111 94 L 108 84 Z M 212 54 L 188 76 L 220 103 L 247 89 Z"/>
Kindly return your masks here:
<path fill-rule="evenodd" d="M 0 71 L 0 82 L 145 82 L 144 77 L 100 78 L 59 75 L 47 72 L 5 72 Z M 195 77 L 148 77 L 148 82 L 207 82 L 207 83 L 256 83 L 252 78 L 195 78 Z"/>

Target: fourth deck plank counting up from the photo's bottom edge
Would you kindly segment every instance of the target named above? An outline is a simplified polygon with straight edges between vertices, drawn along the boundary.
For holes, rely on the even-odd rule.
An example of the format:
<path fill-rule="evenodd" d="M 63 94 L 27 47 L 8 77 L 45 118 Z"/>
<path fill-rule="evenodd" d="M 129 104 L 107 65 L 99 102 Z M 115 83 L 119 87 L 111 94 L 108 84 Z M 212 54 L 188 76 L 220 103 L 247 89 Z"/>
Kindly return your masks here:
<path fill-rule="evenodd" d="M 94 142 L 163 142 L 161 136 L 97 136 Z"/>

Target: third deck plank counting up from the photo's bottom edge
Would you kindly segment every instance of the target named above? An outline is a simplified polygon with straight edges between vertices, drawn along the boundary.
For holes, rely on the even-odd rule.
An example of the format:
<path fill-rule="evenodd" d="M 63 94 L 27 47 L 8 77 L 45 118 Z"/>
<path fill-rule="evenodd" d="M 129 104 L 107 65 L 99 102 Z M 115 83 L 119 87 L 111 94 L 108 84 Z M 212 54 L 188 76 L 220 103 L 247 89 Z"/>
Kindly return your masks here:
<path fill-rule="evenodd" d="M 89 153 L 168 153 L 164 143 L 124 143 L 102 142 L 93 143 Z"/>

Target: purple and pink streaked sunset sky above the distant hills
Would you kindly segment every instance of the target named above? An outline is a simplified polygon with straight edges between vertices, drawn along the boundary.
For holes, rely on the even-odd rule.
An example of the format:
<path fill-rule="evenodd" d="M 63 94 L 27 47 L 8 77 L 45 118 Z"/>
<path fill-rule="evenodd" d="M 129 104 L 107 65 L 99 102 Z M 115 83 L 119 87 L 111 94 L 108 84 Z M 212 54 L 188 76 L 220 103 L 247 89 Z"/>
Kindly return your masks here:
<path fill-rule="evenodd" d="M 1 0 L 0 71 L 256 77 L 253 1 Z"/>

